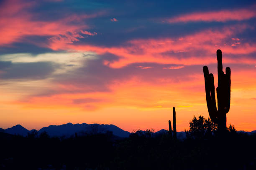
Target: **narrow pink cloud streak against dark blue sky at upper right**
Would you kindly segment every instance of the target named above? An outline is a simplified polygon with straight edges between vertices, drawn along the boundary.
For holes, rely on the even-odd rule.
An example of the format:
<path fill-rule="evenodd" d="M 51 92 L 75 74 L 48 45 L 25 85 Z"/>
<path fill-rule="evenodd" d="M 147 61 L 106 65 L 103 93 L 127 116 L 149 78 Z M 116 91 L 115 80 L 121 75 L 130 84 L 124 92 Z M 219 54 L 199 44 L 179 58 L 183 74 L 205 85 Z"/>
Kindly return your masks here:
<path fill-rule="evenodd" d="M 189 13 L 169 18 L 168 23 L 187 23 L 187 22 L 226 22 L 228 20 L 248 20 L 256 17 L 255 9 L 239 9 L 239 10 L 220 10 L 212 12 Z"/>

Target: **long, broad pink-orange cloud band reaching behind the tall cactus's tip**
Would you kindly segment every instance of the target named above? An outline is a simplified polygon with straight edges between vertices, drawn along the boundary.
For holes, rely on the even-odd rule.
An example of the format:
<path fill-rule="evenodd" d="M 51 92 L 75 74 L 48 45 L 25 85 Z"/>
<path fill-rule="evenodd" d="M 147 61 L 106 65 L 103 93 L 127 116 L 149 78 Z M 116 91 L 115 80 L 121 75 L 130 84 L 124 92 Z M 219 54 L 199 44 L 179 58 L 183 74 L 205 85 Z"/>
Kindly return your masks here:
<path fill-rule="evenodd" d="M 207 29 L 191 35 L 176 38 L 134 39 L 123 46 L 95 46 L 82 44 L 65 44 L 51 42 L 54 50 L 92 51 L 99 55 L 110 53 L 120 57 L 119 60 L 104 61 L 109 67 L 120 68 L 135 62 L 155 62 L 159 64 L 194 65 L 215 63 L 215 52 L 221 49 L 225 54 L 251 54 L 256 52 L 255 43 L 231 46 L 232 37 L 250 29 L 248 25 L 233 25 L 221 29 Z M 227 45 L 230 44 L 230 45 Z M 188 55 L 189 53 L 189 55 Z M 204 56 L 198 57 L 198 53 Z M 178 55 L 179 54 L 179 55 Z M 178 56 L 177 56 L 178 55 Z M 256 59 L 245 57 L 225 57 L 229 63 L 256 63 Z"/>

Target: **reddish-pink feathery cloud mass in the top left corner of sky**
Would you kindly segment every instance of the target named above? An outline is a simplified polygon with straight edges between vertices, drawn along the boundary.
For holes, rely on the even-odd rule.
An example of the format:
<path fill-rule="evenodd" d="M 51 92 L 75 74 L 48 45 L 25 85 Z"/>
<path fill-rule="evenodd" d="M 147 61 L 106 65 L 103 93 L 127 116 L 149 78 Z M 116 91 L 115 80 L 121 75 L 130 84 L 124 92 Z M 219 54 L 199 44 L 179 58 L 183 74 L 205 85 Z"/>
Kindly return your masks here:
<path fill-rule="evenodd" d="M 102 15 L 102 13 L 91 15 L 74 14 L 54 21 L 40 21 L 33 19 L 33 16 L 37 14 L 28 12 L 28 9 L 34 5 L 35 2 L 25 3 L 20 0 L 8 0 L 3 3 L 0 10 L 0 45 L 21 42 L 23 37 L 28 35 L 53 36 L 50 40 L 56 41 L 59 39 L 68 43 L 77 41 L 75 38 L 82 37 L 77 32 L 89 28 L 82 21 Z M 74 37 L 72 38 L 67 32 L 71 32 Z M 90 34 L 96 35 L 96 32 Z M 61 35 L 67 38 L 61 38 Z"/>

